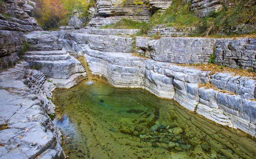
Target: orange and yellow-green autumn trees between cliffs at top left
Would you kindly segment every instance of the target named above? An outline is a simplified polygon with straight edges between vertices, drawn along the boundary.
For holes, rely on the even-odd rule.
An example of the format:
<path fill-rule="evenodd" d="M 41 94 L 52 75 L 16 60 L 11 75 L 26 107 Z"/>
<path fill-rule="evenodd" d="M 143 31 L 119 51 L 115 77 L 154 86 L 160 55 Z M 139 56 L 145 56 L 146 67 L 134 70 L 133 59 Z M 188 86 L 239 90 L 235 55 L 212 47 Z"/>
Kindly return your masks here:
<path fill-rule="evenodd" d="M 95 5 L 95 0 L 33 1 L 36 3 L 34 17 L 44 30 L 67 25 L 70 15 L 76 15 L 83 23 L 86 23 L 90 16 L 90 8 Z"/>

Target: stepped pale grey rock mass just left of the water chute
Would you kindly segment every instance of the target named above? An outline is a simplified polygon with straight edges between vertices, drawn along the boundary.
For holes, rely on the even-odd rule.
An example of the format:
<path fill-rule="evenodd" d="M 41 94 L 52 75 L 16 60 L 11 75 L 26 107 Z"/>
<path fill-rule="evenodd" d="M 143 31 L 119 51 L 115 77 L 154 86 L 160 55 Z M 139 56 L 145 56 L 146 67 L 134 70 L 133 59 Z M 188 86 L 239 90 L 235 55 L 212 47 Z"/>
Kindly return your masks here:
<path fill-rule="evenodd" d="M 62 48 L 59 38 L 51 32 L 26 34 L 26 41 L 30 51 L 25 53 L 24 60 L 57 87 L 69 88 L 86 79 L 83 65 Z"/>

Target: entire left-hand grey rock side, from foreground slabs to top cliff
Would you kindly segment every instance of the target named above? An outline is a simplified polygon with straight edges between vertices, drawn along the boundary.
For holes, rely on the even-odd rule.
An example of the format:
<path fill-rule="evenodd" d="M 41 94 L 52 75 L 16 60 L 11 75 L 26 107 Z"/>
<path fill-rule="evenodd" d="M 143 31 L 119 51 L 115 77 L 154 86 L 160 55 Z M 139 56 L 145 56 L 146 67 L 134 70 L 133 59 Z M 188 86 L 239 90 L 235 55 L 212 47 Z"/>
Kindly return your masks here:
<path fill-rule="evenodd" d="M 1 4 L 1 159 L 65 158 L 60 130 L 50 118 L 55 113 L 51 91 L 56 88 L 51 81 L 72 87 L 86 79 L 82 65 L 62 48 L 58 38 L 39 31 L 32 9 L 25 0 Z M 22 57 L 29 63 L 18 61 Z"/>

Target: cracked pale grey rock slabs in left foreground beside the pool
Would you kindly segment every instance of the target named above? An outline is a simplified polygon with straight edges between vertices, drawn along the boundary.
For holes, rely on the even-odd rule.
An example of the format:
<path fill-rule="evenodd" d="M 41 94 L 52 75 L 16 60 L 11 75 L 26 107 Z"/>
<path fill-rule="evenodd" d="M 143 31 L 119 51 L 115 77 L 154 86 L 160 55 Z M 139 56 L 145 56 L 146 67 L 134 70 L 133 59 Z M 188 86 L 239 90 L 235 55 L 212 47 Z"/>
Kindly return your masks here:
<path fill-rule="evenodd" d="M 22 61 L 0 74 L 0 158 L 65 158 L 44 74 Z"/>

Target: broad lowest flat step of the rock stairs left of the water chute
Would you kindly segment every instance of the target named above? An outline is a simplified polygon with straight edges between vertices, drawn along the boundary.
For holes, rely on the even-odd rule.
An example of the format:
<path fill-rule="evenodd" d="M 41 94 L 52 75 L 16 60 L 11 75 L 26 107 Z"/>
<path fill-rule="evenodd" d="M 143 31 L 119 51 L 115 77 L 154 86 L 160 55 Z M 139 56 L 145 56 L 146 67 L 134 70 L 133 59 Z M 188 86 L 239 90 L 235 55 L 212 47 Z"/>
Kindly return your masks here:
<path fill-rule="evenodd" d="M 64 55 L 25 55 L 23 56 L 24 60 L 36 60 L 36 61 L 56 61 L 56 60 L 68 60 L 70 59 L 69 54 Z"/>

